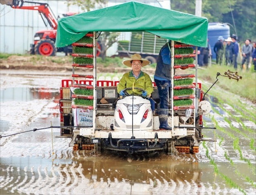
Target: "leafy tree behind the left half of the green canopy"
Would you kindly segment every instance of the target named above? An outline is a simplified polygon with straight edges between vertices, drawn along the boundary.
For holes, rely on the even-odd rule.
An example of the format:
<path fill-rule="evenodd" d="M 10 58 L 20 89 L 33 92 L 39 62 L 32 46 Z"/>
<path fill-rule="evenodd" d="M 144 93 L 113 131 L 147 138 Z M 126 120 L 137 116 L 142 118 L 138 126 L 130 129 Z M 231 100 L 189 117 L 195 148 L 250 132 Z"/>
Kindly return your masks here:
<path fill-rule="evenodd" d="M 90 11 L 95 8 L 96 3 L 99 7 L 106 7 L 106 0 L 69 0 L 68 5 L 77 5 L 82 11 Z M 118 32 L 102 32 L 99 37 L 99 43 L 101 46 L 100 56 L 104 60 L 106 58 L 106 52 L 115 42 L 118 42 Z"/>

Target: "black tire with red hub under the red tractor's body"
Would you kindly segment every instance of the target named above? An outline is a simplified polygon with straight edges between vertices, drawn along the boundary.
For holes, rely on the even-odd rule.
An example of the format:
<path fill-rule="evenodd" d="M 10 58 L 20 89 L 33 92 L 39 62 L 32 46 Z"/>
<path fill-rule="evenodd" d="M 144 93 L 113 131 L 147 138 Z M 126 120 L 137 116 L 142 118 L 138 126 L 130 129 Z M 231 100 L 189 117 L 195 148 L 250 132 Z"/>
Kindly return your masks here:
<path fill-rule="evenodd" d="M 42 55 L 42 56 L 55 56 L 57 49 L 55 48 L 54 45 L 55 45 L 55 42 L 51 39 L 41 39 L 35 45 L 35 54 Z M 50 51 L 49 52 L 46 51 L 45 53 L 42 53 L 40 51 L 42 48 L 40 47 L 43 47 L 43 46 L 48 46 L 48 48 L 46 47 L 46 49 L 50 48 Z"/>

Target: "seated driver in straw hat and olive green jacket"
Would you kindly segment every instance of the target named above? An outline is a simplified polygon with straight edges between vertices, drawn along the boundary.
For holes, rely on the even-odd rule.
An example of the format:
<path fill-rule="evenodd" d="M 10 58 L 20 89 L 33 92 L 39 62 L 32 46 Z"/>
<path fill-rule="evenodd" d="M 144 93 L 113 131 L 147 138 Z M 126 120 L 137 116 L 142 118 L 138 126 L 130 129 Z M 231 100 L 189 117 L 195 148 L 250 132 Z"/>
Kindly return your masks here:
<path fill-rule="evenodd" d="M 132 70 L 128 73 L 124 73 L 119 84 L 117 85 L 117 92 L 121 95 L 124 96 L 123 89 L 126 89 L 128 87 L 138 87 L 141 89 L 144 89 L 143 92 L 141 92 L 138 89 L 134 89 L 134 92 L 132 90 L 128 90 L 127 92 L 129 94 L 134 94 L 134 95 L 142 95 L 142 96 L 150 96 L 154 90 L 152 86 L 152 80 L 149 77 L 147 73 L 142 72 L 141 68 L 143 66 L 147 66 L 150 62 L 148 60 L 143 60 L 140 56 L 140 54 L 133 54 L 132 58 L 129 60 L 123 61 L 123 64 L 132 67 Z M 154 111 L 155 108 L 155 102 L 153 99 L 149 98 L 148 99 L 151 103 L 151 109 Z"/>

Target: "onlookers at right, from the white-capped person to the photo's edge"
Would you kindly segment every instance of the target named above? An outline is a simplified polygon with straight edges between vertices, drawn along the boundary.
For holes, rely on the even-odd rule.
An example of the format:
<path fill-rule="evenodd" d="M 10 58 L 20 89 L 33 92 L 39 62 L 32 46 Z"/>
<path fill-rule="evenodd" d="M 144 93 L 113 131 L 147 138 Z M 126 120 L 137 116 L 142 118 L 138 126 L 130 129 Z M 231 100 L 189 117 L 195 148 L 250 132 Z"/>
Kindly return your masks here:
<path fill-rule="evenodd" d="M 225 42 L 224 42 L 225 41 Z M 249 68 L 250 57 L 253 59 L 254 70 L 256 70 L 256 59 L 252 56 L 255 50 L 254 46 L 251 45 L 251 40 L 247 39 L 242 47 L 242 69 Z M 224 39 L 222 36 L 218 37 L 218 41 L 213 47 L 213 51 L 216 53 L 216 63 L 222 64 L 223 54 L 225 54 L 225 64 L 234 64 L 234 68 L 237 69 L 237 56 L 239 54 L 239 44 L 237 42 L 237 36 L 232 35 L 231 37 Z"/>

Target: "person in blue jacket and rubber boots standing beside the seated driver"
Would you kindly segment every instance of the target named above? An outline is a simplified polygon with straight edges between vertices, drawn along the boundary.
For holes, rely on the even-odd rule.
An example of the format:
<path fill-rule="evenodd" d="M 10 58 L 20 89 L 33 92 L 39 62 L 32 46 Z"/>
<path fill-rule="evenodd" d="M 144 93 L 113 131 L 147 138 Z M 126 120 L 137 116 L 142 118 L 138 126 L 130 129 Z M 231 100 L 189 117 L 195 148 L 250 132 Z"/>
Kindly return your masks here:
<path fill-rule="evenodd" d="M 171 87 L 171 41 L 166 43 L 159 52 L 156 61 L 154 81 L 158 89 L 160 103 L 157 112 L 159 115 L 159 130 L 171 130 L 168 125 L 168 104 L 170 100 L 169 90 Z"/>

